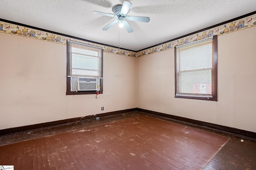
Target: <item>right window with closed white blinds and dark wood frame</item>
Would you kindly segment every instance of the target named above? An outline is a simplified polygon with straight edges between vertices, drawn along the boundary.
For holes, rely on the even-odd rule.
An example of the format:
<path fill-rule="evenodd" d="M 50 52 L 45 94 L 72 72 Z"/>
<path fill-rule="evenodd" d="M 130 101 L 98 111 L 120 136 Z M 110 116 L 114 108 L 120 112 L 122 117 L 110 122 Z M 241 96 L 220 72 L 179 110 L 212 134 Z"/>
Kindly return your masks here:
<path fill-rule="evenodd" d="M 217 101 L 217 36 L 175 47 L 175 98 Z"/>

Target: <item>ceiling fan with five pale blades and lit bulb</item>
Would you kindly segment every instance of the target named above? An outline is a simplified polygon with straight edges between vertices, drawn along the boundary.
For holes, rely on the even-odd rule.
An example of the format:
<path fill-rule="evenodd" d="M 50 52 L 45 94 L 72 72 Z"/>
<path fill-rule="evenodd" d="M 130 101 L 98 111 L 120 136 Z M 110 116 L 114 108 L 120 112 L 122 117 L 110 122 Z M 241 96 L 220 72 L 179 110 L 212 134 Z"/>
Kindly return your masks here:
<path fill-rule="evenodd" d="M 129 25 L 129 23 L 126 20 L 129 21 L 140 21 L 140 22 L 149 22 L 149 17 L 141 17 L 141 16 L 128 16 L 127 13 L 129 12 L 130 8 L 132 6 L 132 3 L 129 1 L 124 1 L 123 4 L 118 4 L 113 7 L 113 14 L 108 14 L 104 12 L 98 12 L 94 11 L 93 14 L 99 14 L 103 16 L 109 16 L 113 18 L 118 18 L 118 20 L 114 20 L 111 23 L 109 23 L 106 27 L 104 27 L 102 30 L 106 31 L 108 30 L 112 25 L 119 23 L 119 26 L 124 26 L 128 33 L 131 33 L 133 31 L 132 27 Z M 126 20 L 124 20 L 126 19 Z"/>

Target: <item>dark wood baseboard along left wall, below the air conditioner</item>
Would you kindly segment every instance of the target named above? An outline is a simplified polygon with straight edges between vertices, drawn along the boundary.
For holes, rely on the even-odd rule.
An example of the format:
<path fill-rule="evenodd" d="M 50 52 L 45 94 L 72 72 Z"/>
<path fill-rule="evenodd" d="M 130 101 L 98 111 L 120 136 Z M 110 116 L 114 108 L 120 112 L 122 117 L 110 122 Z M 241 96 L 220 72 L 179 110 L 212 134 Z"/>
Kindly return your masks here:
<path fill-rule="evenodd" d="M 84 117 L 75 117 L 75 118 L 51 121 L 51 122 L 46 122 L 46 123 L 38 123 L 38 124 L 34 124 L 34 125 L 26 125 L 26 126 L 21 126 L 21 127 L 12 127 L 12 128 L 8 128 L 8 129 L 1 129 L 0 136 L 5 136 L 5 135 L 10 135 L 10 134 L 15 134 L 15 133 L 22 133 L 22 132 L 26 132 L 26 131 L 34 131 L 34 130 L 38 130 L 38 129 L 45 129 L 45 128 L 49 128 L 49 127 L 66 125 L 66 124 L 70 124 L 70 123 L 78 123 L 81 121 L 93 120 L 96 117 L 114 116 L 114 115 L 127 113 L 127 112 L 131 112 L 131 111 L 136 111 L 136 108 L 111 111 L 111 112 L 107 112 L 107 113 L 100 113 L 100 114 L 89 115 L 89 116 L 84 116 Z"/>

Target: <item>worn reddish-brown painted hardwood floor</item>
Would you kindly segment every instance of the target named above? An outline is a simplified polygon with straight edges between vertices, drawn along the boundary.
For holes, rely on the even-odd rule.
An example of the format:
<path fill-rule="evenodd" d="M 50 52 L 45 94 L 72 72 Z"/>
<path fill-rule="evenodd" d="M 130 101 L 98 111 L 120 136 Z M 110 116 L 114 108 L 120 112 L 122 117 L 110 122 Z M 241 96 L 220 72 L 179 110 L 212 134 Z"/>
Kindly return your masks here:
<path fill-rule="evenodd" d="M 241 139 L 132 112 L 0 137 L 0 165 L 40 170 L 254 170 L 256 141 Z"/>

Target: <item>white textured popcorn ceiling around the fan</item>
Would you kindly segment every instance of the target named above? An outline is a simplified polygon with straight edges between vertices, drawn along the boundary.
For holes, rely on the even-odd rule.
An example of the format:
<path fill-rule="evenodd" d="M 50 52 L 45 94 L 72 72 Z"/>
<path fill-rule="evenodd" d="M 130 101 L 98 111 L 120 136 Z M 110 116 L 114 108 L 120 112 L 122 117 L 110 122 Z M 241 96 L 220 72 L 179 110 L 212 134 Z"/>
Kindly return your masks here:
<path fill-rule="evenodd" d="M 128 21 L 128 33 L 118 24 L 102 28 L 116 18 L 112 7 L 123 0 L 1 0 L 0 18 L 79 37 L 89 41 L 139 51 L 182 35 L 254 12 L 256 0 L 129 0 L 130 16 L 148 16 L 148 23 Z"/>

